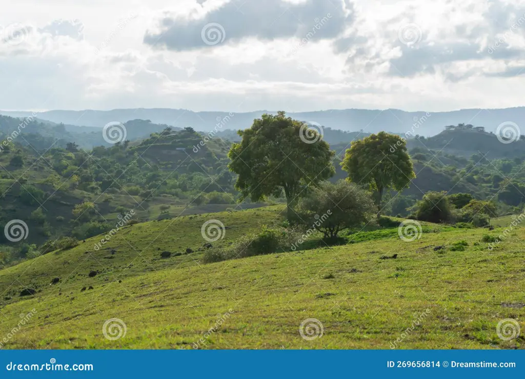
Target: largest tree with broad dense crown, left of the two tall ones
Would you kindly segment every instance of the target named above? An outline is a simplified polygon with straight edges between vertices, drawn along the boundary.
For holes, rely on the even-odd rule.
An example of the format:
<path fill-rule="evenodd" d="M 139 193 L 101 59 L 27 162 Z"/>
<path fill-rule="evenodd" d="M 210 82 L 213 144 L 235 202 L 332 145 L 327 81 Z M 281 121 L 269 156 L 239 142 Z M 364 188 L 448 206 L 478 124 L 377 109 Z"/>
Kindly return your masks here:
<path fill-rule="evenodd" d="M 238 174 L 235 187 L 251 201 L 284 191 L 288 219 L 293 218 L 293 205 L 307 186 L 335 173 L 330 145 L 317 131 L 286 117 L 285 112 L 265 113 L 238 134 L 242 141 L 234 143 L 228 153 L 228 167 Z"/>

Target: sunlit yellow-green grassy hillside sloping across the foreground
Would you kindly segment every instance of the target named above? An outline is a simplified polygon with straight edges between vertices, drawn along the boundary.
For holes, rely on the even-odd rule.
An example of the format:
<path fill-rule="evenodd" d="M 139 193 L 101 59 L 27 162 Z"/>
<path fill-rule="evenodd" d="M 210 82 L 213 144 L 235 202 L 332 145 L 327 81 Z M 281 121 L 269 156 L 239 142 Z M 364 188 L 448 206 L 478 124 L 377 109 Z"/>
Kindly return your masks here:
<path fill-rule="evenodd" d="M 413 242 L 401 240 L 394 227 L 343 246 L 214 264 L 199 260 L 202 250 L 160 258 L 164 250 L 202 247 L 206 220 L 224 223 L 224 239 L 213 244 L 227 246 L 262 224 L 280 223 L 281 211 L 276 206 L 137 224 L 102 250 L 93 250 L 100 240 L 93 237 L 4 269 L 0 335 L 20 314 L 36 311 L 5 347 L 192 349 L 202 338 L 209 349 L 389 349 L 423 313 L 398 348 L 525 345 L 523 336 L 502 341 L 496 334 L 499 320 L 525 317 L 523 228 L 493 250 L 482 238 L 500 228 L 425 225 Z M 89 277 L 91 270 L 97 275 Z M 55 277 L 60 281 L 51 284 Z M 37 292 L 19 296 L 29 286 Z M 112 318 L 126 325 L 125 336 L 114 341 L 102 333 Z M 299 333 L 309 318 L 323 327 L 311 341 Z"/>

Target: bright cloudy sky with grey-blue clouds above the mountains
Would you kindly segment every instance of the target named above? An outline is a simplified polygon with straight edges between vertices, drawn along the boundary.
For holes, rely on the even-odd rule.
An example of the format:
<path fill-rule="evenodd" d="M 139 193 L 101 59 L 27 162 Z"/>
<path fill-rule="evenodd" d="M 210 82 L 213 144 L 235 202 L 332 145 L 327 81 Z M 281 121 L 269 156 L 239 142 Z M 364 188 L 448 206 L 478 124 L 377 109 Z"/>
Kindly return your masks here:
<path fill-rule="evenodd" d="M 525 4 L 18 0 L 0 88 L 3 110 L 523 106 Z"/>

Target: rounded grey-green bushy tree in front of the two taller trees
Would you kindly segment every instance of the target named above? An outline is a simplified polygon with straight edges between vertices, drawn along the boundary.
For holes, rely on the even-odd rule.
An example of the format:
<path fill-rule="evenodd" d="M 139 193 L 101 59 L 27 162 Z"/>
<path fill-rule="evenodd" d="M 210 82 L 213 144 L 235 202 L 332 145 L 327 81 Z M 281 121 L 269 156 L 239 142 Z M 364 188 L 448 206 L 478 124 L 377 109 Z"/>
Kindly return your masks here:
<path fill-rule="evenodd" d="M 369 193 L 346 181 L 322 182 L 301 202 L 307 226 L 315 225 L 324 238 L 335 238 L 341 230 L 359 226 L 373 218 L 376 207 Z"/>

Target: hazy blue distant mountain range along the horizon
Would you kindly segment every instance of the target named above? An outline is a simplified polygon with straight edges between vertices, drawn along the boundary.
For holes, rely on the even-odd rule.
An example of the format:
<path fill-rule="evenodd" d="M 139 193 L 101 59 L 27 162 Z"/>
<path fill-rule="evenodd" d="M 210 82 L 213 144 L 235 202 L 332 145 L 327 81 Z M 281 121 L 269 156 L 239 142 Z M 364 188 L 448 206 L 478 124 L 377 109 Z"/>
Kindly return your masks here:
<path fill-rule="evenodd" d="M 53 110 L 36 113 L 36 117 L 55 123 L 78 125 L 85 127 L 102 128 L 108 122 L 129 120 L 151 120 L 155 124 L 166 124 L 173 127 L 192 127 L 199 131 L 212 131 L 216 125 L 219 130 L 246 129 L 254 119 L 262 113 L 276 113 L 273 111 L 255 112 L 193 112 L 184 109 L 114 109 L 110 111 L 84 110 L 64 111 Z M 0 111 L 0 114 L 11 117 L 28 117 L 29 111 Z M 525 120 L 525 107 L 505 109 L 461 109 L 450 112 L 405 112 L 398 109 L 367 110 L 343 109 L 313 112 L 289 112 L 290 117 L 319 123 L 327 128 L 355 132 L 363 130 L 367 133 L 376 133 L 382 130 L 432 136 L 444 130 L 446 125 L 459 123 L 472 124 L 475 127 L 485 127 L 496 131 L 499 124 L 513 122 L 521 126 Z M 34 114 L 33 114 L 34 115 Z M 523 125 L 525 132 L 525 125 Z"/>

